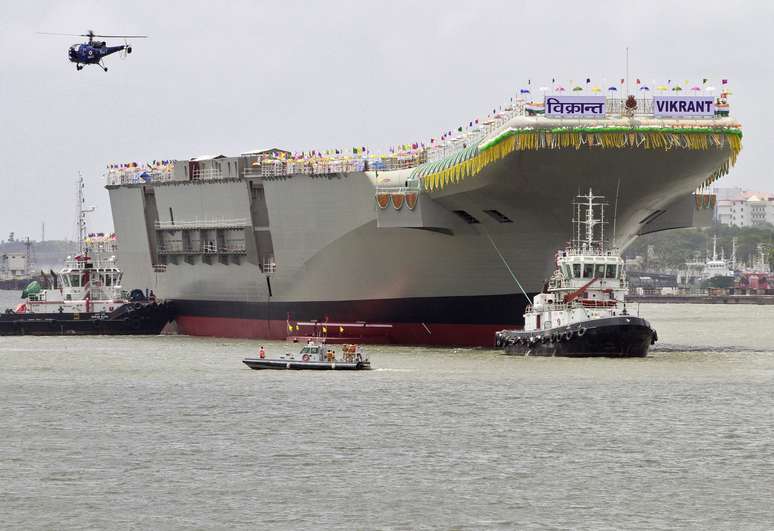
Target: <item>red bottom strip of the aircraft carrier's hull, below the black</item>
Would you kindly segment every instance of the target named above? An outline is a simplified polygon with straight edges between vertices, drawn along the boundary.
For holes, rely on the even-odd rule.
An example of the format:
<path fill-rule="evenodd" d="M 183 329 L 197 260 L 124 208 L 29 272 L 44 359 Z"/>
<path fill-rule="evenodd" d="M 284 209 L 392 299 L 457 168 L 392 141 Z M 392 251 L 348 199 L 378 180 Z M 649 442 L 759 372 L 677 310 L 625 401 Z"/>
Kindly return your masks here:
<path fill-rule="evenodd" d="M 178 331 L 191 336 L 306 341 L 325 337 L 330 343 L 429 345 L 494 348 L 495 332 L 513 324 L 424 323 L 293 323 L 286 320 L 178 315 Z M 323 327 L 326 330 L 323 330 Z M 292 328 L 292 330 L 291 330 Z"/>

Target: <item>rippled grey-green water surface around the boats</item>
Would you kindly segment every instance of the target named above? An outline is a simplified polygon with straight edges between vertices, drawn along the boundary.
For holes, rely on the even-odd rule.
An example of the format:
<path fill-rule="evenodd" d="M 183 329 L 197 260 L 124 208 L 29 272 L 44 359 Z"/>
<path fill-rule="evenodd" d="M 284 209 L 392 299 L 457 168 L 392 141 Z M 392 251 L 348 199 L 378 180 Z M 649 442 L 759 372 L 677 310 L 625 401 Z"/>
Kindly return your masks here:
<path fill-rule="evenodd" d="M 771 529 L 774 306 L 640 310 L 644 359 L 391 346 L 358 373 L 0 337 L 0 527 Z"/>

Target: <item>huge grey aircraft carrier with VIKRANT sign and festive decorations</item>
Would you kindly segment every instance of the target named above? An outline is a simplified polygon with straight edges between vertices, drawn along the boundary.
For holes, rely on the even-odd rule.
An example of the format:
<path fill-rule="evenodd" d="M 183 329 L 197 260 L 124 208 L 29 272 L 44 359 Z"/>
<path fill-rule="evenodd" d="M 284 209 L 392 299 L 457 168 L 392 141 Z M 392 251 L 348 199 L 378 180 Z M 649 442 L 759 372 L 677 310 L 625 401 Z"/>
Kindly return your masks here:
<path fill-rule="evenodd" d="M 629 100 L 589 117 L 517 98 L 387 155 L 111 164 L 125 283 L 173 301 L 185 334 L 490 346 L 543 288 L 580 190 L 608 198 L 621 247 L 711 219 L 739 123 L 719 100 L 702 117 Z"/>

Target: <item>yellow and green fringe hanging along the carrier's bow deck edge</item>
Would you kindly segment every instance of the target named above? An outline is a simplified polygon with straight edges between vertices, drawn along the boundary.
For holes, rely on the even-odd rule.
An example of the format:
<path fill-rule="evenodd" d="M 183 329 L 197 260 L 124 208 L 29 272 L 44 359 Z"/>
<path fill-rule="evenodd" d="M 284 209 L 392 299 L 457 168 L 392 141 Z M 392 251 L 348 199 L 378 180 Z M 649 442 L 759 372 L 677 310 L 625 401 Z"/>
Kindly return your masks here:
<path fill-rule="evenodd" d="M 602 149 L 644 148 L 708 150 L 721 149 L 728 143 L 729 158 L 702 183 L 709 186 L 727 174 L 742 149 L 742 132 L 738 129 L 712 128 L 557 128 L 510 129 L 479 147 L 471 146 L 440 161 L 423 164 L 414 170 L 412 178 L 422 179 L 425 190 L 440 190 L 447 184 L 458 183 L 478 174 L 487 165 L 514 151 L 538 149 L 581 149 L 583 146 Z"/>

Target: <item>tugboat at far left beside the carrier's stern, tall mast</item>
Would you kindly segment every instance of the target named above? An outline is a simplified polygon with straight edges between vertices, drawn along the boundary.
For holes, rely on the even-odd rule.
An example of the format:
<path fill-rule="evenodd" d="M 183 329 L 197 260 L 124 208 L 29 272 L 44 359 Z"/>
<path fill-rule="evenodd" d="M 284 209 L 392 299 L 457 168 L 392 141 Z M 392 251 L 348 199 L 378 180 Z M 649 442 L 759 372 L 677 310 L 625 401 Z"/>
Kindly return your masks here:
<path fill-rule="evenodd" d="M 115 262 L 115 235 L 86 235 L 83 179 L 78 181 L 78 254 L 67 257 L 59 273 L 47 276 L 48 289 L 33 281 L 24 302 L 0 314 L 0 336 L 12 335 L 156 335 L 173 318 L 168 303 L 121 287 Z"/>

